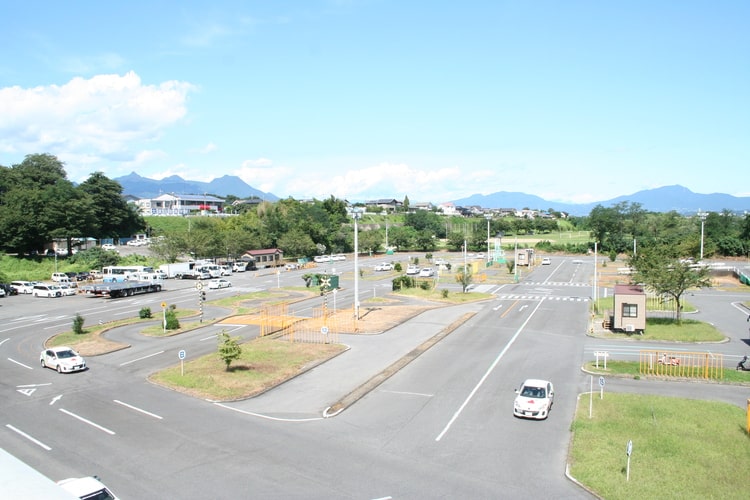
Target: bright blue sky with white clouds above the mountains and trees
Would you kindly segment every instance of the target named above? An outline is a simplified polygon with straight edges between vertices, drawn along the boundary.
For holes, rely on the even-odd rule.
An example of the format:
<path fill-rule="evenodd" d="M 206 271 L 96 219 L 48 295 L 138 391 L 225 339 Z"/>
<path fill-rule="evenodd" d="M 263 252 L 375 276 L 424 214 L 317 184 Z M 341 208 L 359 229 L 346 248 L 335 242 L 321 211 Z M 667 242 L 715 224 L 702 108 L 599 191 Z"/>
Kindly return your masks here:
<path fill-rule="evenodd" d="M 750 196 L 750 2 L 5 2 L 0 165 L 285 198 Z"/>

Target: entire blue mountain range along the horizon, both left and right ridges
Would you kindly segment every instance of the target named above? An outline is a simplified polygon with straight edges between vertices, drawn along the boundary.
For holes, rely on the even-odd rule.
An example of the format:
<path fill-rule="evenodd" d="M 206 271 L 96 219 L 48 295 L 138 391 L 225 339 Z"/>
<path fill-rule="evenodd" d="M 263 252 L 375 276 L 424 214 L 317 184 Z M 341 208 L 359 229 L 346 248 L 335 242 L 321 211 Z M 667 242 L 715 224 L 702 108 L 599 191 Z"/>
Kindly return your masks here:
<path fill-rule="evenodd" d="M 278 196 L 259 191 L 234 175 L 218 177 L 211 182 L 200 182 L 185 180 L 179 175 L 165 177 L 161 180 L 148 179 L 132 172 L 129 175 L 118 177 L 114 180 L 122 185 L 124 194 L 138 198 L 156 198 L 165 193 L 208 193 L 216 196 L 234 195 L 239 198 L 258 197 L 268 201 L 279 200 Z M 462 207 L 530 208 L 536 210 L 551 208 L 558 212 L 566 212 L 574 216 L 588 215 L 597 205 L 612 207 L 623 202 L 638 203 L 641 205 L 641 208 L 649 212 L 675 211 L 683 215 L 696 213 L 700 210 L 709 212 L 729 210 L 735 213 L 750 210 L 750 197 L 737 197 L 722 193 L 699 194 L 679 185 L 647 189 L 631 195 L 618 196 L 610 200 L 593 203 L 562 203 L 545 200 L 532 194 L 508 191 L 499 191 L 487 195 L 474 194 L 467 198 L 452 201 L 454 205 Z"/>

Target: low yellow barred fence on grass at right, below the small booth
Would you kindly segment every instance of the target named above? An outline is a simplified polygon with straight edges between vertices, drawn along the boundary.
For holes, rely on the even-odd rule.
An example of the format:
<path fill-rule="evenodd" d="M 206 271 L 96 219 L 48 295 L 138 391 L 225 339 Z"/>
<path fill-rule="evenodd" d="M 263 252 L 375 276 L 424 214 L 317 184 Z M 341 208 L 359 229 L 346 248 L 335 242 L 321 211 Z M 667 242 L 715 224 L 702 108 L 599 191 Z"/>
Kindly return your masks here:
<path fill-rule="evenodd" d="M 638 356 L 642 375 L 722 379 L 724 356 L 709 352 L 643 350 Z"/>

